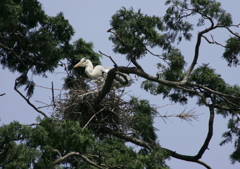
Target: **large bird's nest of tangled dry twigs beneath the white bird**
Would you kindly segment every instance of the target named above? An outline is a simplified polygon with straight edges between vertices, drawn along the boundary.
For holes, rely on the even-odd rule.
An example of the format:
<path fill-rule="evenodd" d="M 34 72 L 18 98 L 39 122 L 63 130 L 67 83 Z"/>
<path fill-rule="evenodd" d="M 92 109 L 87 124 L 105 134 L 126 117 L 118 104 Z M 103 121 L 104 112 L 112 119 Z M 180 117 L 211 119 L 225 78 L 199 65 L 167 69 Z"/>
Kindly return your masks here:
<path fill-rule="evenodd" d="M 55 101 L 52 117 L 78 121 L 82 128 L 98 135 L 107 133 L 106 128 L 127 132 L 133 108 L 122 99 L 124 90 L 111 90 L 99 104 L 95 104 L 98 92 L 99 89 L 90 84 L 87 88 L 76 86 L 61 93 Z"/>

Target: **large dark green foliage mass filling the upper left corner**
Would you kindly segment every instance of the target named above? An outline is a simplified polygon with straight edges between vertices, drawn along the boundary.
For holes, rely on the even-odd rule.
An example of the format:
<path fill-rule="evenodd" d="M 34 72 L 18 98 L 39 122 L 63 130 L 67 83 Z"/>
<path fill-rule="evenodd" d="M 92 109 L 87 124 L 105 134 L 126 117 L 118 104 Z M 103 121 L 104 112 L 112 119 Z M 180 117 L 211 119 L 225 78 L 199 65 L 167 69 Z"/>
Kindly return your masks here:
<path fill-rule="evenodd" d="M 47 16 L 37 0 L 0 1 L 0 63 L 22 78 L 18 86 L 28 85 L 27 96 L 33 94 L 26 77 L 53 72 L 62 59 L 61 48 L 67 46 L 74 31 L 63 13 Z"/>

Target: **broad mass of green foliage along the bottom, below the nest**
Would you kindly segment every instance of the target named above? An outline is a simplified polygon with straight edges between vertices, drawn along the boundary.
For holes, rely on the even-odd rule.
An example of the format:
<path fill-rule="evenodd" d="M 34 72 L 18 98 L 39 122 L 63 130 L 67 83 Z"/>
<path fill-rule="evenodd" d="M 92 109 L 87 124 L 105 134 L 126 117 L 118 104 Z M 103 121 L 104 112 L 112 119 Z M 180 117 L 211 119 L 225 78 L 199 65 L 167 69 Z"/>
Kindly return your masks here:
<path fill-rule="evenodd" d="M 133 148 L 126 146 L 124 140 L 113 136 L 99 140 L 89 130 L 82 129 L 78 122 L 45 118 L 38 119 L 38 123 L 26 126 L 12 122 L 1 126 L 0 167 L 27 169 L 30 167 L 53 168 L 58 165 L 59 167 L 68 166 L 68 168 L 94 168 L 79 155 L 69 156 L 60 163 L 56 163 L 56 160 L 70 152 L 85 155 L 98 165 L 132 169 L 146 168 L 146 164 L 157 166 L 156 168 L 166 167 L 163 161 L 166 157 L 163 153 L 158 155 L 156 154 L 159 153 L 158 151 L 145 155 L 137 153 Z M 148 120 L 146 123 L 151 125 L 152 122 Z M 148 129 L 145 130 L 151 131 L 148 124 L 146 124 Z"/>

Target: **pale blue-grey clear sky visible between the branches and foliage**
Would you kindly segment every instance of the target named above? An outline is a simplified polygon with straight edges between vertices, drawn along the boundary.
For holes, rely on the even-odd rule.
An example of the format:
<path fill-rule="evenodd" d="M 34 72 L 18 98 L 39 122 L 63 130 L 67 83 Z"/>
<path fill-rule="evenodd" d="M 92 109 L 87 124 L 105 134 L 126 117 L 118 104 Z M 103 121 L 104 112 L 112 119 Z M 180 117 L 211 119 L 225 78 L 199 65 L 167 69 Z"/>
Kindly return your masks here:
<path fill-rule="evenodd" d="M 233 17 L 235 24 L 240 23 L 239 19 L 239 6 L 240 1 L 229 0 L 220 1 L 225 10 L 230 12 Z M 102 51 L 107 55 L 111 55 L 112 58 L 119 66 L 127 66 L 125 56 L 114 54 L 112 51 L 113 44 L 108 40 L 110 36 L 107 30 L 111 28 L 109 21 L 111 16 L 119 10 L 121 7 L 127 9 L 133 7 L 135 11 L 141 9 L 141 11 L 147 15 L 163 16 L 166 11 L 164 1 L 151 0 L 151 1 L 133 1 L 133 0 L 115 0 L 115 1 L 83 1 L 83 0 L 40 0 L 43 9 L 47 15 L 56 16 L 59 12 L 63 12 L 66 19 L 69 20 L 70 24 L 75 30 L 75 35 L 72 41 L 79 38 L 83 38 L 86 42 L 93 42 L 95 51 Z M 196 18 L 192 18 L 191 21 L 196 23 Z M 197 31 L 201 31 L 203 28 L 196 28 L 193 32 L 193 39 L 190 42 L 180 43 L 177 47 L 182 51 L 190 65 L 193 54 L 194 46 L 196 43 Z M 233 29 L 236 32 L 240 32 L 239 28 Z M 212 33 L 214 39 L 220 43 L 224 43 L 229 37 L 229 33 L 226 30 L 218 30 Z M 208 34 L 210 37 L 210 34 Z M 223 48 L 217 45 L 210 45 L 203 40 L 202 46 L 200 47 L 200 56 L 197 65 L 202 63 L 209 63 L 210 66 L 216 69 L 216 72 L 221 74 L 222 78 L 231 85 L 240 84 L 240 76 L 234 76 L 240 71 L 240 68 L 229 68 L 227 62 L 222 59 Z M 154 53 L 160 54 L 159 49 L 154 49 Z M 113 66 L 112 62 L 102 57 L 102 65 Z M 144 70 L 155 75 L 157 72 L 156 63 L 160 62 L 158 58 L 147 55 L 145 58 L 139 61 Z M 18 95 L 13 87 L 14 81 L 19 74 L 12 74 L 7 69 L 0 69 L 0 77 L 4 79 L 0 83 L 0 94 L 6 93 L 6 95 L 0 97 L 0 125 L 8 124 L 14 120 L 17 120 L 23 124 L 31 124 L 35 122 L 38 114 L 32 107 L 30 107 L 25 100 Z M 54 83 L 54 88 L 62 89 L 64 74 L 63 68 L 58 68 L 53 74 L 49 74 L 48 78 L 33 77 L 33 80 L 38 85 L 35 90 L 35 94 L 31 99 L 32 103 L 37 107 L 45 106 L 51 101 L 51 83 Z M 132 76 L 133 77 L 133 76 Z M 161 95 L 152 96 L 144 90 L 140 89 L 140 84 L 143 79 L 138 79 L 135 83 L 126 89 L 130 95 L 135 95 L 142 99 L 147 99 L 153 106 L 164 106 L 170 104 L 168 99 L 163 100 Z M 21 89 L 21 91 L 24 91 Z M 57 91 L 56 91 L 57 92 Z M 185 155 L 196 155 L 200 147 L 202 146 L 208 128 L 209 111 L 206 107 L 199 107 L 196 105 L 196 99 L 190 99 L 188 104 L 181 106 L 179 104 L 168 105 L 163 108 L 159 108 L 158 111 L 162 115 L 164 114 L 179 114 L 184 109 L 186 111 L 194 108 L 196 114 L 201 114 L 198 117 L 198 121 L 192 121 L 189 124 L 176 117 L 171 117 L 167 120 L 167 123 L 161 118 L 156 118 L 154 126 L 158 129 L 157 135 L 158 140 L 162 147 L 171 149 L 180 154 Z M 51 109 L 44 109 L 47 115 L 51 114 Z M 212 168 L 228 168 L 228 169 L 239 169 L 240 164 L 230 164 L 229 155 L 233 151 L 233 144 L 227 144 L 225 146 L 219 146 L 222 140 L 222 133 L 226 131 L 227 119 L 224 119 L 220 115 L 215 116 L 214 121 L 214 134 L 209 145 L 209 150 L 206 150 L 202 159 L 203 162 L 210 165 Z M 184 168 L 184 169 L 202 169 L 203 166 L 186 162 L 178 159 L 171 158 L 167 160 L 167 164 L 173 168 Z"/>

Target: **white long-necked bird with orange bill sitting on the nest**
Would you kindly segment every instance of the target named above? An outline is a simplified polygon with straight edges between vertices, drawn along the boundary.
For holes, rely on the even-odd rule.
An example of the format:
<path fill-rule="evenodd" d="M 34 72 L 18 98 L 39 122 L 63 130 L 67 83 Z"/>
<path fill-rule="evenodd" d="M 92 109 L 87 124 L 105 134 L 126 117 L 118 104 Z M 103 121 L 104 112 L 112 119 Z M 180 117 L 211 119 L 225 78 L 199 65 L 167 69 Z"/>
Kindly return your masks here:
<path fill-rule="evenodd" d="M 87 58 L 82 58 L 80 62 L 78 62 L 74 68 L 76 67 L 85 67 L 85 73 L 90 79 L 96 79 L 95 81 L 99 86 L 103 86 L 105 83 L 105 80 L 107 79 L 107 74 L 109 70 L 111 70 L 111 67 L 106 67 L 102 65 L 97 65 L 93 68 L 92 62 L 87 59 Z M 124 78 L 124 77 L 125 78 Z M 126 83 L 127 79 L 127 84 Z M 124 84 L 123 84 L 124 83 Z M 113 81 L 113 86 L 115 88 L 120 88 L 120 87 L 128 87 L 133 83 L 132 78 L 126 74 L 126 73 L 121 73 L 116 75 L 116 79 Z"/>

